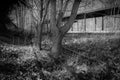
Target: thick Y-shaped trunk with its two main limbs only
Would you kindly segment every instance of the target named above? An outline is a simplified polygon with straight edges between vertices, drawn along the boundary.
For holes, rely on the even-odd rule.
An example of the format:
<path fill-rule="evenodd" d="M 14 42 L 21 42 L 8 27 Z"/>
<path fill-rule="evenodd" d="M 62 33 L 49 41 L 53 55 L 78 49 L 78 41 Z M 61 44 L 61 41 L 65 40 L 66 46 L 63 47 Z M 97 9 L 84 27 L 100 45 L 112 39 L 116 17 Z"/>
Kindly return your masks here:
<path fill-rule="evenodd" d="M 58 25 L 58 23 L 62 23 L 62 17 L 56 19 L 56 0 L 51 0 L 50 23 L 51 23 L 51 31 L 52 31 L 52 42 L 53 42 L 51 48 L 51 55 L 54 58 L 58 58 L 60 53 L 62 53 L 62 39 L 64 35 L 68 32 L 68 30 L 71 28 L 72 24 L 74 23 L 80 2 L 81 0 L 74 1 L 69 20 L 64 26 L 61 26 Z M 58 23 L 56 20 L 58 21 Z"/>

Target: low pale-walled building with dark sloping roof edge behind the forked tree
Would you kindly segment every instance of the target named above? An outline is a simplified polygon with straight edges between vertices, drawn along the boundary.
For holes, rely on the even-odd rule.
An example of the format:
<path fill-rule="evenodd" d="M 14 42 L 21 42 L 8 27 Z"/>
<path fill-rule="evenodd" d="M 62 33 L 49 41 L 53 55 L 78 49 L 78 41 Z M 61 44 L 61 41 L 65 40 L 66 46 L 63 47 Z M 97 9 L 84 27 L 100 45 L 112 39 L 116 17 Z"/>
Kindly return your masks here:
<path fill-rule="evenodd" d="M 63 21 L 69 19 L 64 17 Z M 109 33 L 120 32 L 120 8 L 101 9 L 77 15 L 68 33 Z"/>

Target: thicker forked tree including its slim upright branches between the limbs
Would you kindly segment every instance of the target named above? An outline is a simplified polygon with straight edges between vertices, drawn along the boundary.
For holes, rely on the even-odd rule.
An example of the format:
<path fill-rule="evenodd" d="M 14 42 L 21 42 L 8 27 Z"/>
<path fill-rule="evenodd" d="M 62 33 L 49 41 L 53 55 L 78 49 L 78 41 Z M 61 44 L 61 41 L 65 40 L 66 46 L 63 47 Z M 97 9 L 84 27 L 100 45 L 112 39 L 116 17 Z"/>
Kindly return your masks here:
<path fill-rule="evenodd" d="M 56 2 L 57 0 L 50 0 L 50 25 L 51 25 L 52 42 L 53 42 L 51 48 L 51 55 L 54 58 L 57 58 L 59 54 L 62 52 L 62 39 L 65 36 L 65 34 L 68 32 L 68 30 L 71 28 L 72 24 L 74 23 L 81 0 L 73 1 L 70 18 L 68 21 L 65 22 L 64 25 L 62 23 L 62 18 L 64 17 L 64 13 L 67 9 L 70 0 L 60 1 L 61 6 L 58 14 L 57 14 Z M 64 6 L 63 3 L 65 3 Z"/>

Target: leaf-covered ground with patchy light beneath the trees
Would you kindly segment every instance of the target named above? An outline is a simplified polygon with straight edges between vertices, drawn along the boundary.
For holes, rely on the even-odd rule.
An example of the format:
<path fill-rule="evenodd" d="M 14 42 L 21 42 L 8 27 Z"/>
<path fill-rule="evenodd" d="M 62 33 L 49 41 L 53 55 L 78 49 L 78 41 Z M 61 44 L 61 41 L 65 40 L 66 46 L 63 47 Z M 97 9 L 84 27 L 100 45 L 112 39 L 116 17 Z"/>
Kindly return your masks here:
<path fill-rule="evenodd" d="M 0 80 L 120 80 L 120 38 L 63 42 L 63 53 L 0 42 Z"/>

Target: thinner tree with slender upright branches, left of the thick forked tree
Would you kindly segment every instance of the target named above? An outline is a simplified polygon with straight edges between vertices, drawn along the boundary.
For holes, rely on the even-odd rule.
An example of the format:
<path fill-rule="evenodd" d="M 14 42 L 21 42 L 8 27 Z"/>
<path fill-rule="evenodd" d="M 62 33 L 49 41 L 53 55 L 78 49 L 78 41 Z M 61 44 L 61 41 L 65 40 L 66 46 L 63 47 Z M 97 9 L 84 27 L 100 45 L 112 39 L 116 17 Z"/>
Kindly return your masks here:
<path fill-rule="evenodd" d="M 33 44 L 37 46 L 41 50 L 41 42 L 42 42 L 42 30 L 43 30 L 43 25 L 46 20 L 46 15 L 48 11 L 48 6 L 49 6 L 50 0 L 33 0 L 33 7 L 37 8 L 37 18 L 34 16 L 34 11 L 32 16 L 36 20 L 37 25 L 35 26 L 36 31 L 35 31 L 35 36 L 34 36 L 34 42 Z M 34 10 L 34 9 L 32 9 Z"/>

